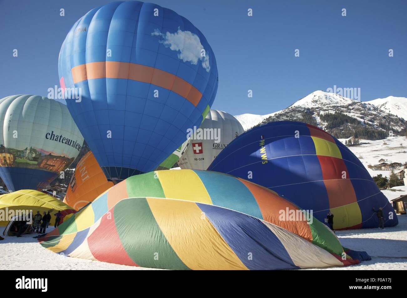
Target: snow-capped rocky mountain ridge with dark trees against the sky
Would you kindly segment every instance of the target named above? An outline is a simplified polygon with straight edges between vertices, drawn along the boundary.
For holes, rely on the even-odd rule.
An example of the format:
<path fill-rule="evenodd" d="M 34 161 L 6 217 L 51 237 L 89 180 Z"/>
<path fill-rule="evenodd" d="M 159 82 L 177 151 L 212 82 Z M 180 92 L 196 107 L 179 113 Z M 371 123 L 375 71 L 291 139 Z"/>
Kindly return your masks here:
<path fill-rule="evenodd" d="M 388 102 L 395 101 L 388 100 Z M 403 103 L 402 100 L 397 102 Z M 407 105 L 400 110 L 407 114 Z M 295 120 L 318 126 L 338 138 L 356 135 L 370 139 L 383 139 L 388 136 L 389 131 L 394 131 L 394 134 L 397 132 L 404 134 L 407 122 L 400 118 L 401 115 L 402 113 L 399 112 L 398 117 L 369 102 L 360 102 L 335 93 L 315 91 L 281 111 L 267 115 L 243 114 L 234 117 L 246 130 L 267 122 Z"/>

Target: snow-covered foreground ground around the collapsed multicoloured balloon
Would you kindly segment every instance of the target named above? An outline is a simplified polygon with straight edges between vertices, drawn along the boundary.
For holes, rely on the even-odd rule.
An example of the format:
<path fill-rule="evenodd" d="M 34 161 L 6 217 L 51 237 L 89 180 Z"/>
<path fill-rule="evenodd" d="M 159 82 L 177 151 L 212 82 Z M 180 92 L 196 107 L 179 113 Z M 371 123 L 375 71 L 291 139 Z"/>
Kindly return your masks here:
<path fill-rule="evenodd" d="M 407 215 L 398 216 L 399 224 L 385 230 L 370 228 L 337 231 L 343 246 L 363 250 L 371 261 L 359 265 L 315 270 L 407 270 Z M 48 231 L 51 231 L 49 228 Z M 33 235 L 0 240 L 1 270 L 157 270 L 63 257 L 43 248 Z"/>

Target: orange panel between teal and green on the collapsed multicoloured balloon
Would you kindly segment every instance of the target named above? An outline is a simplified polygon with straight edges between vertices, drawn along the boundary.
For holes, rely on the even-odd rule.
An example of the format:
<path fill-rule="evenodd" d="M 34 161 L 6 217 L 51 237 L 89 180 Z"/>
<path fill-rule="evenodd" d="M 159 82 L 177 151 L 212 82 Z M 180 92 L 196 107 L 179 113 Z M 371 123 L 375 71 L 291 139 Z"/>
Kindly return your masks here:
<path fill-rule="evenodd" d="M 265 187 L 259 187 L 252 182 L 238 178 L 241 183 L 243 183 L 247 189 L 252 193 L 258 207 L 260 208 L 261 214 L 263 215 L 263 220 L 280 226 L 281 228 L 286 229 L 294 234 L 299 235 L 300 237 L 312 242 L 312 233 L 309 224 L 306 220 L 297 220 L 295 222 L 289 220 L 280 220 L 280 210 L 286 212 L 286 208 L 289 210 L 298 210 L 299 208 L 280 197 L 274 191 L 271 191 Z"/>

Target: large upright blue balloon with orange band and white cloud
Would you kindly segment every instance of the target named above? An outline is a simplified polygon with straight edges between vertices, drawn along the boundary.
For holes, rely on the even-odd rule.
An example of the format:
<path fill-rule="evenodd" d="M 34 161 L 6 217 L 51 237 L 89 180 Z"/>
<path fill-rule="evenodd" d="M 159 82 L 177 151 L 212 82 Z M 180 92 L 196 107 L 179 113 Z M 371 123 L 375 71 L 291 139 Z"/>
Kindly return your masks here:
<path fill-rule="evenodd" d="M 81 17 L 58 69 L 65 97 L 80 95 L 66 99 L 68 109 L 112 181 L 155 170 L 201 124 L 218 86 L 204 35 L 174 11 L 138 1 Z"/>

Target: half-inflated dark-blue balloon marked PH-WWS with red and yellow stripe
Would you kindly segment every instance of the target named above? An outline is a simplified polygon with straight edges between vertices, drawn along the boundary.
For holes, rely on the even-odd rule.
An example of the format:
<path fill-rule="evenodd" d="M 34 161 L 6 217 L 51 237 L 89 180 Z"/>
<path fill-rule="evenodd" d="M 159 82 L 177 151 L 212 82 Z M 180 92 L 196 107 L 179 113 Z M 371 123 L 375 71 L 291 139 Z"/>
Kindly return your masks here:
<path fill-rule="evenodd" d="M 373 228 L 383 208 L 385 226 L 398 224 L 384 194 L 359 159 L 325 131 L 301 122 L 264 124 L 236 138 L 208 170 L 248 179 L 276 191 L 333 228 Z"/>

